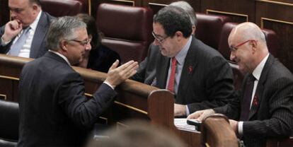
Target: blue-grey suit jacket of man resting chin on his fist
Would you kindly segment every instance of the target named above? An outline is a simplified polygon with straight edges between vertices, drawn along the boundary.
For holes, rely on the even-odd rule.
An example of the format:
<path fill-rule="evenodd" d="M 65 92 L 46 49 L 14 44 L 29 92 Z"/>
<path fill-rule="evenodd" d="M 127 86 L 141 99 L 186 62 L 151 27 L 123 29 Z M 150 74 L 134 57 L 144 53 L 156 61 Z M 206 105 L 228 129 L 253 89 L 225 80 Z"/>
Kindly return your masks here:
<path fill-rule="evenodd" d="M 46 35 L 47 35 L 47 30 L 50 26 L 51 20 L 54 17 L 50 16 L 49 13 L 46 13 L 42 11 L 40 20 L 38 23 L 38 26 L 35 30 L 35 35 L 33 36 L 33 42 L 32 45 L 30 46 L 30 58 L 38 58 L 42 57 L 47 52 L 47 47 L 46 47 Z M 4 35 L 4 29 L 5 25 L 0 28 L 0 37 Z M 15 38 L 13 38 L 14 40 Z M 7 54 L 9 51 L 13 40 L 8 43 L 8 45 L 2 46 L 1 45 L 1 40 L 0 40 L 0 53 L 1 54 Z"/>

